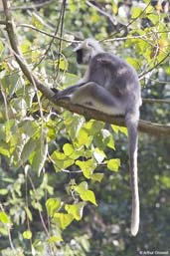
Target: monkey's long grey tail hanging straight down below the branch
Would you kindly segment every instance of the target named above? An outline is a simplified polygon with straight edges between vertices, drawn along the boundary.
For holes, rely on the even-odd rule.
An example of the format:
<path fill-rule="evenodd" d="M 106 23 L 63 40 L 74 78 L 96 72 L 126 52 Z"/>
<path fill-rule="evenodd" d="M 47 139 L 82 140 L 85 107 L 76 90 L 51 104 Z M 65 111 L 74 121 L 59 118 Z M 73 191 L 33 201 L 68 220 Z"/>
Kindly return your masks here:
<path fill-rule="evenodd" d="M 129 167 L 132 192 L 132 213 L 131 213 L 131 234 L 136 236 L 139 229 L 139 193 L 138 193 L 138 175 L 137 175 L 137 147 L 138 147 L 138 118 L 127 115 L 125 117 L 128 130 L 129 146 Z"/>

